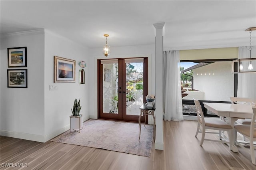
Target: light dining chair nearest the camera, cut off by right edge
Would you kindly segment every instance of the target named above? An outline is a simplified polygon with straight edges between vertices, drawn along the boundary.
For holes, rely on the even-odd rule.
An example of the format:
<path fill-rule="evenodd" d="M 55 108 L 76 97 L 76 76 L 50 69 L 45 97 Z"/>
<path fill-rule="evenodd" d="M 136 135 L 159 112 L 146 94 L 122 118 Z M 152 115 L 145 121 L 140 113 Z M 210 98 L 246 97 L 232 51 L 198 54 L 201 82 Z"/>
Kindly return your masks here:
<path fill-rule="evenodd" d="M 250 123 L 250 126 L 248 125 L 234 125 L 234 128 L 236 130 L 236 132 L 239 132 L 241 134 L 243 134 L 244 136 L 246 136 L 246 138 L 248 138 L 250 140 L 250 155 L 251 155 L 251 159 L 252 159 L 252 164 L 256 164 L 255 162 L 255 153 L 254 153 L 254 141 L 256 141 L 256 122 L 255 122 L 255 116 L 256 116 L 256 106 L 252 106 L 252 121 Z M 236 144 L 238 144 L 241 148 L 244 148 L 244 145 L 242 145 L 240 142 L 236 142 Z M 248 151 L 246 149 L 246 151 Z"/>

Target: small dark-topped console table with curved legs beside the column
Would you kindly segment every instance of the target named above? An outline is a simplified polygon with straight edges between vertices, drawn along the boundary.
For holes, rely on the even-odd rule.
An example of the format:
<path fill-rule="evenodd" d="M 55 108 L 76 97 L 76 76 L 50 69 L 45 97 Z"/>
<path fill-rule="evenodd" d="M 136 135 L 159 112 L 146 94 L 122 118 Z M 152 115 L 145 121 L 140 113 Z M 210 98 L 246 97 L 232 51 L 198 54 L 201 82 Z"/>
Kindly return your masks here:
<path fill-rule="evenodd" d="M 140 126 L 140 131 L 141 131 L 141 125 L 140 125 L 140 117 L 142 115 L 145 116 L 145 121 L 144 121 L 144 126 L 146 124 L 146 115 L 152 115 L 153 119 L 154 119 L 154 126 L 153 126 L 153 135 L 154 135 L 154 139 L 155 139 L 155 125 L 156 125 L 156 119 L 154 116 L 154 111 L 155 111 L 155 105 L 153 105 L 153 107 L 147 107 L 146 106 L 147 103 L 143 103 L 143 105 L 140 107 L 140 116 L 139 116 L 139 126 Z M 140 136 L 139 136 L 139 140 L 140 140 Z"/>

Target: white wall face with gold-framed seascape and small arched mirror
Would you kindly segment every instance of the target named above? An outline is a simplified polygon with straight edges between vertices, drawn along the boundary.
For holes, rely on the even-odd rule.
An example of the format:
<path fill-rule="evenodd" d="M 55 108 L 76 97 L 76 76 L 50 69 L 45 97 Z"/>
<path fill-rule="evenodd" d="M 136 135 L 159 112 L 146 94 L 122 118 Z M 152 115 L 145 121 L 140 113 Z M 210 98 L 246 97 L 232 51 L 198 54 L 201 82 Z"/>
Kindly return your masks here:
<path fill-rule="evenodd" d="M 54 55 L 76 60 L 76 82 L 54 83 Z M 58 36 L 46 30 L 45 32 L 45 55 L 44 55 L 44 130 L 46 139 L 69 129 L 69 116 L 72 115 L 71 107 L 74 99 L 80 99 L 83 121 L 89 119 L 88 107 L 90 85 L 89 71 L 85 67 L 85 84 L 79 84 L 78 62 L 83 60 L 88 63 L 88 49 L 78 43 L 72 42 L 64 37 Z M 58 90 L 50 91 L 49 85 L 57 85 Z"/>

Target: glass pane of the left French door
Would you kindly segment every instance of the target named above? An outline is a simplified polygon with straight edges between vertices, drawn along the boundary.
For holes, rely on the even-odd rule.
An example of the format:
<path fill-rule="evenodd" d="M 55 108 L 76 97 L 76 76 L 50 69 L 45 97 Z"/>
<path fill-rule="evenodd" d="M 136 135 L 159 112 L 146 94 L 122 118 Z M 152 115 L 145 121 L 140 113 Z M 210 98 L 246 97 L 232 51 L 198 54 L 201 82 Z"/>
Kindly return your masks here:
<path fill-rule="evenodd" d="M 118 114 L 118 63 L 103 64 L 103 113 Z"/>

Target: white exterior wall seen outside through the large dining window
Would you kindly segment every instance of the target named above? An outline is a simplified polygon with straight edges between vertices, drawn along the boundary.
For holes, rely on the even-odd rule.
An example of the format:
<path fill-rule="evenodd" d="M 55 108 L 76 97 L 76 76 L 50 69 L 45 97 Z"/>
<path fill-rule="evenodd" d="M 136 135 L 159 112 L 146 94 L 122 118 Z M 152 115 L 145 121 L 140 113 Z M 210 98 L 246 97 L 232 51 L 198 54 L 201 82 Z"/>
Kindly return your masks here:
<path fill-rule="evenodd" d="M 193 75 L 193 88 L 204 91 L 204 100 L 230 101 L 229 97 L 234 96 L 234 74 L 232 74 L 231 61 L 217 61 L 193 69 Z"/>

